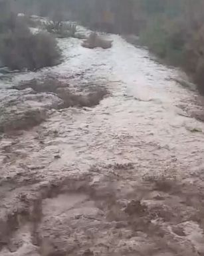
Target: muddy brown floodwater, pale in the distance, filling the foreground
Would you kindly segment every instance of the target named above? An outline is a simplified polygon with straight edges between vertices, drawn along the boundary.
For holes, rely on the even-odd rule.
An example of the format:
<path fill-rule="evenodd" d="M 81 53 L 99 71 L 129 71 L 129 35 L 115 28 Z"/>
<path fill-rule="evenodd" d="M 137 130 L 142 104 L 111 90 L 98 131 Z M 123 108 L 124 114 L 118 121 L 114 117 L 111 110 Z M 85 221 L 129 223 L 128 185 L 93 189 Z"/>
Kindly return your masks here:
<path fill-rule="evenodd" d="M 0 255 L 204 255 L 202 99 L 179 71 L 107 37 L 107 50 L 60 39 L 61 65 L 1 77 L 1 102 L 46 101 L 49 115 L 1 135 Z M 53 94 L 11 89 L 48 74 L 109 93 L 52 109 Z"/>

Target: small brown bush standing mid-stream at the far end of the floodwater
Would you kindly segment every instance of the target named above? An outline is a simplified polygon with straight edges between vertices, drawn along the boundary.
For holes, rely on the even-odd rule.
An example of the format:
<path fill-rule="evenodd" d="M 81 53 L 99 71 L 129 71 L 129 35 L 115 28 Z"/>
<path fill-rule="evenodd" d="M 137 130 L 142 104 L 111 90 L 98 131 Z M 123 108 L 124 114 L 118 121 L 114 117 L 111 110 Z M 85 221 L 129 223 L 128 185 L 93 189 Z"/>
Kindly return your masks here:
<path fill-rule="evenodd" d="M 112 47 L 112 41 L 102 39 L 96 33 L 90 33 L 89 37 L 82 43 L 82 46 L 90 49 L 94 49 L 96 47 L 108 49 Z"/>

